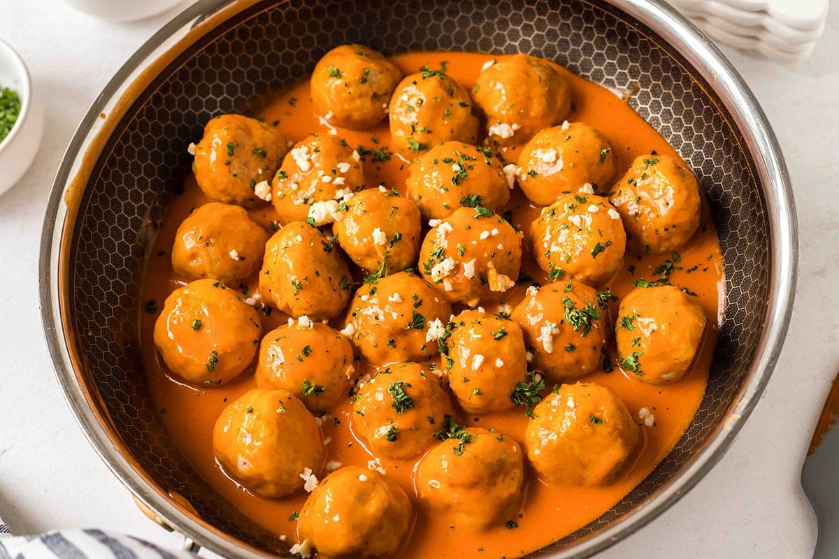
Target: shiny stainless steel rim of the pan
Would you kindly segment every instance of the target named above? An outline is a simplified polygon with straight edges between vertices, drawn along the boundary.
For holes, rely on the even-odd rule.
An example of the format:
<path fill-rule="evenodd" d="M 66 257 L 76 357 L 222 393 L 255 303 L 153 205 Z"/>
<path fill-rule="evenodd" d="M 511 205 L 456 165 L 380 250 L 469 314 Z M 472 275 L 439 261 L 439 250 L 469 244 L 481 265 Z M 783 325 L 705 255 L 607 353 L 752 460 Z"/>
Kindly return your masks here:
<path fill-rule="evenodd" d="M 138 49 L 107 84 L 82 120 L 67 148 L 55 177 L 50 202 L 44 219 L 39 256 L 39 301 L 44 337 L 47 341 L 55 374 L 65 398 L 76 416 L 82 431 L 96 453 L 111 468 L 113 474 L 143 503 L 185 537 L 227 557 L 271 557 L 218 531 L 201 520 L 195 520 L 185 510 L 172 504 L 165 494 L 154 489 L 143 474 L 122 455 L 106 430 L 99 423 L 96 412 L 89 405 L 70 362 L 59 300 L 59 255 L 62 232 L 70 216 L 63 204 L 65 187 L 75 175 L 79 159 L 91 144 L 100 126 L 99 115 L 110 113 L 128 84 L 143 69 L 144 63 L 156 60 L 160 54 L 196 23 L 218 13 L 232 0 L 201 0 L 180 13 Z M 573 548 L 556 551 L 551 556 L 559 559 L 581 559 L 602 551 L 615 542 L 654 520 L 676 500 L 680 499 L 716 464 L 727 450 L 749 414 L 757 405 L 769 376 L 778 361 L 780 349 L 789 327 L 792 301 L 798 275 L 798 233 L 789 173 L 777 139 L 758 102 L 748 86 L 734 70 L 722 52 L 698 28 L 687 22 L 673 8 L 660 0 L 611 0 L 616 8 L 643 22 L 680 52 L 696 70 L 713 85 L 717 96 L 731 113 L 743 134 L 756 164 L 758 179 L 764 185 L 763 194 L 770 215 L 772 241 L 771 286 L 761 339 L 743 388 L 703 448 L 697 452 L 678 474 L 669 479 L 645 505 L 637 507 L 593 536 L 580 541 Z"/>

